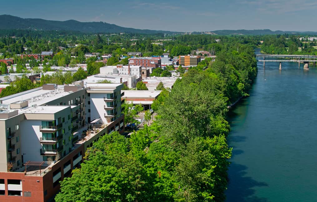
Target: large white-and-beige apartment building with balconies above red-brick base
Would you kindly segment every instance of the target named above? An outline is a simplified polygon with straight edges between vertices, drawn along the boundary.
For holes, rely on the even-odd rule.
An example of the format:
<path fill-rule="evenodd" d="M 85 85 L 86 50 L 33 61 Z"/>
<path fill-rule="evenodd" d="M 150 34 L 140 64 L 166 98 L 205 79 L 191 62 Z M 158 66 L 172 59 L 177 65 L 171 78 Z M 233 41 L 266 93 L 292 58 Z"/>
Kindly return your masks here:
<path fill-rule="evenodd" d="M 46 202 L 100 136 L 124 131 L 123 84 L 43 85 L 0 99 L 0 201 Z"/>

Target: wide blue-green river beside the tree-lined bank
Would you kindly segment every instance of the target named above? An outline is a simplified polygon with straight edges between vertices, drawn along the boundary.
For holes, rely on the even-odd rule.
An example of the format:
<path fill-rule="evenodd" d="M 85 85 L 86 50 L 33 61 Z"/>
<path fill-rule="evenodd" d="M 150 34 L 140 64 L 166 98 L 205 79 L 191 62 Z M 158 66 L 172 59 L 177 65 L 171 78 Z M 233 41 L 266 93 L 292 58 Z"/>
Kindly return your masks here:
<path fill-rule="evenodd" d="M 278 68 L 258 62 L 250 96 L 229 112 L 226 201 L 317 201 L 317 69 Z"/>

